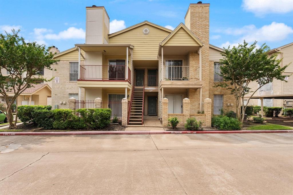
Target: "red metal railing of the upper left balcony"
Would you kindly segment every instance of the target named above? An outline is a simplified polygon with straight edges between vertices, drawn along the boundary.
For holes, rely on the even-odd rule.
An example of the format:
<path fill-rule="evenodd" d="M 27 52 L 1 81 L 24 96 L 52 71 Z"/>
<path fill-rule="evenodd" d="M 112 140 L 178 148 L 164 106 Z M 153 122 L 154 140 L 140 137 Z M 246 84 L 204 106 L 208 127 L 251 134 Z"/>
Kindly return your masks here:
<path fill-rule="evenodd" d="M 127 80 L 125 65 L 81 65 L 80 79 L 82 80 Z M 128 68 L 128 81 L 131 71 Z"/>

